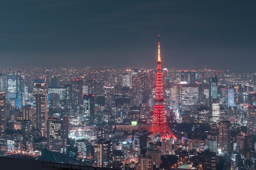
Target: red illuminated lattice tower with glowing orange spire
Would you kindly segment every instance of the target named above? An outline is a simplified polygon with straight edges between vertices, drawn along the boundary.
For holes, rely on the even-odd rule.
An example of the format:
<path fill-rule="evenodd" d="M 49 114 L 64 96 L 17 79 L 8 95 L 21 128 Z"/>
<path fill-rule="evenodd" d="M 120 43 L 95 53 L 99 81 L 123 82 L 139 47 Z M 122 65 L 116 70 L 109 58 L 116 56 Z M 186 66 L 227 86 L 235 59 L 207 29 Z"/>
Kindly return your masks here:
<path fill-rule="evenodd" d="M 158 60 L 156 72 L 156 97 L 154 100 L 154 115 L 150 126 L 150 131 L 154 134 L 160 135 L 161 139 L 170 139 L 176 137 L 172 133 L 166 121 L 164 111 L 164 95 L 163 95 L 163 82 L 162 82 L 162 67 L 160 57 L 160 35 L 158 35 Z"/>

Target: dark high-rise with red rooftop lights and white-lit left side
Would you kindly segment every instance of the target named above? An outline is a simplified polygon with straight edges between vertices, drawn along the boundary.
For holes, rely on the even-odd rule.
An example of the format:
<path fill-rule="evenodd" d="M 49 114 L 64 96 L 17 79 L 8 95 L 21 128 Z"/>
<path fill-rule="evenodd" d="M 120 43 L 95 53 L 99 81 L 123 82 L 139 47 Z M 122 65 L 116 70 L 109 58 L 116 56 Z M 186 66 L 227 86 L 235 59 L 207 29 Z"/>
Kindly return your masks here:
<path fill-rule="evenodd" d="M 90 125 L 94 123 L 94 100 L 92 94 L 84 94 L 83 97 L 83 121 L 84 124 Z"/>

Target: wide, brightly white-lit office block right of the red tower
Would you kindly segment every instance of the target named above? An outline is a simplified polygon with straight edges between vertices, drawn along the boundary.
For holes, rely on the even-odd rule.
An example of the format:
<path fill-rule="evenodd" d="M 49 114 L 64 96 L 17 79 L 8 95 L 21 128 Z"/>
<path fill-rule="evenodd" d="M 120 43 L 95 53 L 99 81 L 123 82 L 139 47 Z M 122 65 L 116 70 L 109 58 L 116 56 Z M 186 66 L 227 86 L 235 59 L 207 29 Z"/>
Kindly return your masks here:
<path fill-rule="evenodd" d="M 199 104 L 198 84 L 179 84 L 179 103 L 181 108 L 189 108 Z"/>

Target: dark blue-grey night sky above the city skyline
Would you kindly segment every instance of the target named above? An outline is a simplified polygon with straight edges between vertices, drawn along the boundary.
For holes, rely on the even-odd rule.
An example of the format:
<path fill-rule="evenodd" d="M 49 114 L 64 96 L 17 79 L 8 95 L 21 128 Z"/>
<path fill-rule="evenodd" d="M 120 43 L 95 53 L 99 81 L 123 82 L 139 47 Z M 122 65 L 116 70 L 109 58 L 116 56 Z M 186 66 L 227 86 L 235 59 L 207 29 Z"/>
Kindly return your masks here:
<path fill-rule="evenodd" d="M 2 0 L 0 66 L 256 62 L 255 0 Z"/>

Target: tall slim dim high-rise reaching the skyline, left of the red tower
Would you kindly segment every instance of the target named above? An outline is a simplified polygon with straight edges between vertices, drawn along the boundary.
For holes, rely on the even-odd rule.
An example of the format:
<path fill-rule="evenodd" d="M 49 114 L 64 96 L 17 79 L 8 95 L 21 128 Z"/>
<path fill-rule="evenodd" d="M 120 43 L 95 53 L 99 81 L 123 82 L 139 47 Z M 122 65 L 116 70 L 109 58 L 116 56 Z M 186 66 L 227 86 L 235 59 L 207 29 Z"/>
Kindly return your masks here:
<path fill-rule="evenodd" d="M 131 106 L 140 106 L 142 103 L 142 81 L 138 72 L 132 74 Z"/>

